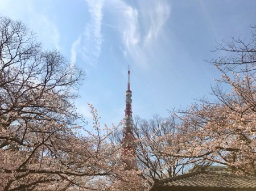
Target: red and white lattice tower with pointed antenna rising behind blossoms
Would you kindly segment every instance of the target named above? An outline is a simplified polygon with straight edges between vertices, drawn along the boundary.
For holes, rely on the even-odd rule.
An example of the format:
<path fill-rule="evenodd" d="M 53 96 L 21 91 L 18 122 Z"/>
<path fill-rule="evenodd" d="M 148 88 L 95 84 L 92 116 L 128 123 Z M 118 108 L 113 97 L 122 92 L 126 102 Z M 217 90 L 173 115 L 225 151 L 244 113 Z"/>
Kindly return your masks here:
<path fill-rule="evenodd" d="M 137 169 L 135 138 L 133 135 L 133 116 L 131 111 L 130 67 L 128 70 L 128 86 L 125 100 L 125 127 L 123 129 L 122 158 L 128 168 Z"/>

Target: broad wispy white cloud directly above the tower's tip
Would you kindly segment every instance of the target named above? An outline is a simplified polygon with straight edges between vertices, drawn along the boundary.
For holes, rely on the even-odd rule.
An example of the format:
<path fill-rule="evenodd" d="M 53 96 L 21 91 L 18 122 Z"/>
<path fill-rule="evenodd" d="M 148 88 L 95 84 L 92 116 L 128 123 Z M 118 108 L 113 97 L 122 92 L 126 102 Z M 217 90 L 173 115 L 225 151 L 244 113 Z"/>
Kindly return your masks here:
<path fill-rule="evenodd" d="M 167 1 L 138 1 L 134 7 L 122 0 L 108 1 L 114 14 L 119 17 L 123 54 L 139 66 L 147 67 L 152 51 L 159 48 L 159 35 L 170 16 Z"/>

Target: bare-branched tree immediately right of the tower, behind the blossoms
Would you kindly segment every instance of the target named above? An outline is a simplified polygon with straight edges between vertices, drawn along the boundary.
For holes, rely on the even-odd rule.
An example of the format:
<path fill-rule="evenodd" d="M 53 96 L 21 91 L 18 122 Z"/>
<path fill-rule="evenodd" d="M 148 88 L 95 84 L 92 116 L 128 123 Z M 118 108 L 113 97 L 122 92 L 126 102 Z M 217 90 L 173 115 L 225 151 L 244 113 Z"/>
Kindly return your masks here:
<path fill-rule="evenodd" d="M 174 115 L 163 118 L 154 115 L 150 120 L 143 120 L 139 116 L 133 118 L 133 134 L 136 145 L 136 159 L 138 171 L 146 188 L 150 188 L 156 179 L 164 179 L 188 172 L 192 168 L 191 159 L 166 155 L 162 151 L 165 147 L 172 147 L 179 127 L 179 120 Z M 166 138 L 159 141 L 160 138 Z M 115 131 L 112 141 L 118 145 L 122 143 L 122 131 Z M 176 150 L 178 154 L 182 150 Z M 192 160 L 195 163 L 195 160 Z M 142 184 L 142 183 L 141 183 Z"/>

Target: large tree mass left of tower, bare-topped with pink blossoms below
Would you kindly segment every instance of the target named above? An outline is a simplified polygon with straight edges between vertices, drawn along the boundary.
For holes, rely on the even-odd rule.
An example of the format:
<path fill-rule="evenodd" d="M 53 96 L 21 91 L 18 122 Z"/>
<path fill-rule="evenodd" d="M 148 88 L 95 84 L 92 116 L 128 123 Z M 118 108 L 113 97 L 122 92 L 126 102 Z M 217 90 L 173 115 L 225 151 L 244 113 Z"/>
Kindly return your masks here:
<path fill-rule="evenodd" d="M 93 130 L 76 113 L 83 78 L 24 24 L 0 18 L 1 190 L 95 190 L 100 177 L 118 176 L 113 130 L 102 133 L 92 105 Z"/>

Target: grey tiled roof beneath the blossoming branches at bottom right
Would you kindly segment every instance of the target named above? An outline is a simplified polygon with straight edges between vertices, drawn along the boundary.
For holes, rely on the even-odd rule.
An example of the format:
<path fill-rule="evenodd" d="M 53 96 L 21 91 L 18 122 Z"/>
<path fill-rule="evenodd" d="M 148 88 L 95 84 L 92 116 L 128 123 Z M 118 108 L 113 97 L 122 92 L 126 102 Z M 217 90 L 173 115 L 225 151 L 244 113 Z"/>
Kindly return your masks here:
<path fill-rule="evenodd" d="M 256 190 L 256 179 L 254 177 L 197 171 L 185 175 L 159 180 L 154 184 L 153 188 L 160 186 L 181 186 L 183 188 L 255 188 Z"/>

